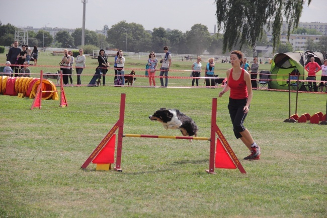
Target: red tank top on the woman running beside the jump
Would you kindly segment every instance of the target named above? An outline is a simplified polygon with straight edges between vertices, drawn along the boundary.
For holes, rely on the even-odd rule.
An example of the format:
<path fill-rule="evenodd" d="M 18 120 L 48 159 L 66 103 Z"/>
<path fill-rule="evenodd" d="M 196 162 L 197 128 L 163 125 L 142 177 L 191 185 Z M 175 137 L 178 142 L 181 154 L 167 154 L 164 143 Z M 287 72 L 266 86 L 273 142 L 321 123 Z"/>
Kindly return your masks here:
<path fill-rule="evenodd" d="M 233 80 L 233 69 L 231 69 L 227 84 L 230 87 L 229 98 L 232 99 L 248 98 L 248 88 L 247 88 L 246 81 L 244 80 L 244 69 L 242 69 L 242 72 L 238 80 Z"/>

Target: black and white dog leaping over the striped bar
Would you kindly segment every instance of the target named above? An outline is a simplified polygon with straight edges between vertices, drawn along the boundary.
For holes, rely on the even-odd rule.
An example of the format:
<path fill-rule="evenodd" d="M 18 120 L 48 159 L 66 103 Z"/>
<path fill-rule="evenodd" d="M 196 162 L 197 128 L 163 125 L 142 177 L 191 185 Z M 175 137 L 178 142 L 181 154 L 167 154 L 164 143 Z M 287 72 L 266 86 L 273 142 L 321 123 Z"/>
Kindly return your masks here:
<path fill-rule="evenodd" d="M 160 122 L 165 129 L 179 129 L 184 136 L 194 135 L 196 137 L 199 130 L 191 117 L 177 109 L 160 108 L 153 115 L 150 115 L 149 119 Z"/>

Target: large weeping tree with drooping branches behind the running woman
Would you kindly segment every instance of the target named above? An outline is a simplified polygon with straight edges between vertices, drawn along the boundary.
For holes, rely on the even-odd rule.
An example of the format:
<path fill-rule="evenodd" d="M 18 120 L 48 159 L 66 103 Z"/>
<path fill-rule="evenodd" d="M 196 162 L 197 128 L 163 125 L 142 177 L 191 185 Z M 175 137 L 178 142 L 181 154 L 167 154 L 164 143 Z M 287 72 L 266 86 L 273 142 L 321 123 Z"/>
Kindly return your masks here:
<path fill-rule="evenodd" d="M 231 50 L 239 42 L 256 50 L 263 26 L 272 28 L 273 47 L 278 45 L 283 18 L 288 23 L 287 38 L 291 27 L 297 28 L 305 0 L 215 0 L 218 32 L 224 30 L 223 51 Z M 308 0 L 308 5 L 311 0 Z M 255 52 L 254 52 L 255 56 Z"/>

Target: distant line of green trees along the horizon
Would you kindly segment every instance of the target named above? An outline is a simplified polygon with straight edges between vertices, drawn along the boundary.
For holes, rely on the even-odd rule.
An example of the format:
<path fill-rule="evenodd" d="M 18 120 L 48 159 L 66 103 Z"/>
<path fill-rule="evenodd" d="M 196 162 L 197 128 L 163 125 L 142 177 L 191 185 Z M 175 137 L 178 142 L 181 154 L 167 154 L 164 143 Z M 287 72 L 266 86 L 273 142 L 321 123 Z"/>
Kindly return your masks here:
<path fill-rule="evenodd" d="M 16 27 L 7 24 L 2 25 L 0 22 L 0 45 L 9 46 L 14 41 Z M 85 30 L 85 44 L 93 45 L 95 49 L 119 49 L 133 52 L 161 52 L 163 46 L 169 46 L 170 51 L 173 53 L 181 54 L 202 54 L 205 50 L 214 55 L 225 55 L 228 51 L 224 51 L 224 35 L 213 34 L 208 31 L 207 26 L 202 24 L 195 24 L 191 27 L 191 30 L 183 33 L 180 30 L 164 29 L 162 27 L 153 28 L 152 31 L 145 30 L 141 24 L 127 23 L 126 21 L 120 21 L 108 28 L 108 25 L 104 25 L 103 30 L 107 32 L 107 35 L 96 33 L 95 31 Z M 53 38 L 49 32 L 45 30 L 39 30 L 38 32 L 29 31 L 30 46 L 38 47 L 65 47 L 65 48 L 78 48 L 81 45 L 81 28 L 76 28 L 70 35 L 68 31 L 59 31 L 55 38 Z M 313 34 L 312 30 L 308 29 L 295 29 L 294 34 L 307 33 Z M 127 42 L 126 42 L 127 41 Z M 322 53 L 327 52 L 327 37 L 321 36 L 320 42 L 314 43 L 312 40 L 307 41 L 306 50 L 320 51 Z M 265 31 L 263 31 L 262 37 L 256 41 L 257 45 L 272 45 L 272 42 L 268 41 Z M 230 50 L 242 49 L 242 52 L 246 56 L 251 56 L 253 51 L 252 47 L 248 44 L 236 43 L 230 47 Z M 279 44 L 275 52 L 289 52 L 293 51 L 293 47 L 290 43 Z M 260 54 L 258 54 L 260 56 Z"/>

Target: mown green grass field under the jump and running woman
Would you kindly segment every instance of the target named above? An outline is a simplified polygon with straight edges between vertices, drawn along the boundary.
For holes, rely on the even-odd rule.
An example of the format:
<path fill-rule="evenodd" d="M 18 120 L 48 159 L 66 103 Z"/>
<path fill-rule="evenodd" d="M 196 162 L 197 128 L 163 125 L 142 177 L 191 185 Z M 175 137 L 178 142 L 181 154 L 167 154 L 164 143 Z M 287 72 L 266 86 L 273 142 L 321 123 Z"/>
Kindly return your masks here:
<path fill-rule="evenodd" d="M 60 57 L 39 59 L 40 65 L 54 66 Z M 5 63 L 4 54 L 0 62 Z M 141 69 L 144 60 L 129 63 L 127 68 Z M 93 74 L 96 65 L 88 59 L 83 74 Z M 229 66 L 219 64 L 216 73 L 223 75 Z M 173 64 L 173 69 L 190 67 L 185 61 Z M 90 79 L 84 76 L 82 83 Z M 108 81 L 112 85 L 113 78 Z M 136 82 L 147 84 L 145 78 Z M 174 83 L 191 81 L 172 79 L 169 86 Z M 148 119 L 166 107 L 192 117 L 198 136 L 209 137 L 211 101 L 220 90 L 66 87 L 68 107 L 49 100 L 41 110 L 30 110 L 32 99 L 0 95 L 0 217 L 326 217 L 327 129 L 283 123 L 289 115 L 287 92 L 254 91 L 244 125 L 262 155 L 260 161 L 241 161 L 245 175 L 237 169 L 207 174 L 207 141 L 156 138 L 124 138 L 121 173 L 96 171 L 94 164 L 80 169 L 118 120 L 121 93 L 126 93 L 125 133 L 181 135 Z M 291 99 L 294 113 L 294 93 Z M 228 96 L 218 98 L 217 125 L 242 160 L 248 151 L 233 136 L 227 103 Z M 299 93 L 299 114 L 325 110 L 326 95 Z"/>

